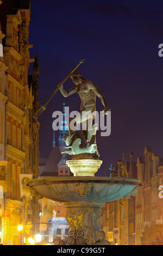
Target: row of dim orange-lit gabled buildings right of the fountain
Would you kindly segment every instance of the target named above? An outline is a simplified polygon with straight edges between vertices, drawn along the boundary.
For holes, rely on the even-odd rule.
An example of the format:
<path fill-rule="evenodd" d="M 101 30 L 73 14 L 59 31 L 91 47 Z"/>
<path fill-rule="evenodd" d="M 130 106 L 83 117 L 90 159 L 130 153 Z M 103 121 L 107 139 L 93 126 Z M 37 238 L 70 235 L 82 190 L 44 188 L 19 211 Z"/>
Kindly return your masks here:
<path fill-rule="evenodd" d="M 102 230 L 108 239 L 111 237 L 113 245 L 141 245 L 141 237 L 146 229 L 162 224 L 162 158 L 148 146 L 145 147 L 144 157 L 137 157 L 137 161 L 134 162 L 133 153 L 129 156 L 130 162 L 125 161 L 124 154 L 122 161 L 118 160 L 117 175 L 141 181 L 136 196 L 105 203 L 102 209 Z"/>

